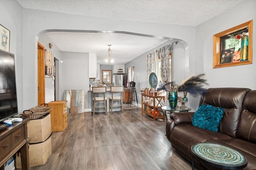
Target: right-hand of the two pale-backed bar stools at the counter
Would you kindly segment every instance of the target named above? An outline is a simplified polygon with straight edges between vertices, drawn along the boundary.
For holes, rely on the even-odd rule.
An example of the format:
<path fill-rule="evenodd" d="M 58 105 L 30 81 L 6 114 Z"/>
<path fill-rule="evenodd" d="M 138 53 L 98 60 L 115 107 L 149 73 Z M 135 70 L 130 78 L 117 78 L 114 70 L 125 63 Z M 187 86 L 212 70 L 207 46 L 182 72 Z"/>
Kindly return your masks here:
<path fill-rule="evenodd" d="M 121 111 L 123 110 L 123 91 L 124 91 L 124 86 L 111 86 L 110 87 L 110 92 L 111 96 L 109 98 L 109 111 L 111 108 L 111 113 L 113 111 L 113 103 L 114 101 L 119 101 L 120 104 L 114 106 L 114 107 L 120 107 Z M 118 96 L 114 96 L 114 94 L 117 94 Z M 120 94 L 120 96 L 119 96 Z M 110 101 L 111 101 L 111 106 L 110 106 Z"/>

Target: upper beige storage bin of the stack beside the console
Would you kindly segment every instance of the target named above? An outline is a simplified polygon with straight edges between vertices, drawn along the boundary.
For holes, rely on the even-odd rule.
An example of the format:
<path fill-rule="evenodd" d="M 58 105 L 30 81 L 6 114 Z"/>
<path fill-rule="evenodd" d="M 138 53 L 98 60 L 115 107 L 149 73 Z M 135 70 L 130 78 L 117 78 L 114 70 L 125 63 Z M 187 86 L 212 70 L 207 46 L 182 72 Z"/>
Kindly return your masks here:
<path fill-rule="evenodd" d="M 34 119 L 28 122 L 28 143 L 39 143 L 45 141 L 52 133 L 51 115 L 45 115 L 42 119 Z"/>

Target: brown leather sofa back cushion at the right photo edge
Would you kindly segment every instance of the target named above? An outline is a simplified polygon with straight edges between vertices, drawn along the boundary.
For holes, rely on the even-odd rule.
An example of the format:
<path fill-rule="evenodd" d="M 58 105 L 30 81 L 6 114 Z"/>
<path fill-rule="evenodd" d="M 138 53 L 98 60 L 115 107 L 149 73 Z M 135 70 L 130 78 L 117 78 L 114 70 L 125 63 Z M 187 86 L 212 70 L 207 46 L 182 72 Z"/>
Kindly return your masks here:
<path fill-rule="evenodd" d="M 256 90 L 248 92 L 244 98 L 236 137 L 256 143 Z"/>

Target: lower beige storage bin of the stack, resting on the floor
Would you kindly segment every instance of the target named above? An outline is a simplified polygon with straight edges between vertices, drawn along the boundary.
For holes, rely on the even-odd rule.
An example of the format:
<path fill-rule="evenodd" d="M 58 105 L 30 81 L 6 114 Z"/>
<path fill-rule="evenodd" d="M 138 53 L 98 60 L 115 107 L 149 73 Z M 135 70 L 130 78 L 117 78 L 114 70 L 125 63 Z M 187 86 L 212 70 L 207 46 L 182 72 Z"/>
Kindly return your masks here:
<path fill-rule="evenodd" d="M 52 137 L 42 143 L 29 144 L 29 166 L 44 165 L 52 154 Z M 20 156 L 16 155 L 16 168 L 21 168 Z"/>

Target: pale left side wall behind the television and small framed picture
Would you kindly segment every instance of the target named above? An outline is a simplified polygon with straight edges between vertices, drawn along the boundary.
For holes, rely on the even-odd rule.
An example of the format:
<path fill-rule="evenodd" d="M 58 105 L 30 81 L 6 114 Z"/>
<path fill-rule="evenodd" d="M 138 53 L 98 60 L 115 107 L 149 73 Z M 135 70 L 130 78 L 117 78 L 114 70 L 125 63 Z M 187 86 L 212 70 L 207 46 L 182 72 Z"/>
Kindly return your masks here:
<path fill-rule="evenodd" d="M 0 1 L 0 24 L 10 30 L 10 53 L 14 54 L 15 69 L 16 69 L 16 88 L 18 98 L 18 112 L 22 113 L 24 109 L 24 96 L 34 96 L 34 91 L 25 91 L 26 84 L 35 84 L 34 81 L 23 81 L 23 13 L 22 7 L 16 0 L 1 0 Z M 33 69 L 33 71 L 35 71 Z M 37 83 L 36 83 L 37 84 Z M 34 103 L 34 102 L 33 102 Z M 33 105 L 34 106 L 34 105 Z"/>

